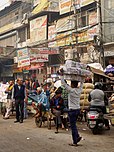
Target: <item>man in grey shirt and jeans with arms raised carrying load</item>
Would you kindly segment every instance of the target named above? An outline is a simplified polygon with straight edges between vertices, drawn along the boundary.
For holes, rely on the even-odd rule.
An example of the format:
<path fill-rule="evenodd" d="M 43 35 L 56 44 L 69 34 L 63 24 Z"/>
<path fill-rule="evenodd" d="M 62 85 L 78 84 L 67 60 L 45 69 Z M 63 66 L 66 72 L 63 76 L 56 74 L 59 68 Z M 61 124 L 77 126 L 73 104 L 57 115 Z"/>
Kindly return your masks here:
<path fill-rule="evenodd" d="M 78 87 L 78 81 L 71 81 L 71 86 L 69 86 L 63 77 L 63 72 L 61 70 L 61 82 L 65 89 L 68 91 L 68 115 L 72 131 L 72 140 L 73 143 L 69 144 L 70 146 L 78 146 L 77 143 L 81 140 L 76 121 L 80 114 L 80 95 L 82 92 L 83 83 L 80 82 L 80 87 Z"/>

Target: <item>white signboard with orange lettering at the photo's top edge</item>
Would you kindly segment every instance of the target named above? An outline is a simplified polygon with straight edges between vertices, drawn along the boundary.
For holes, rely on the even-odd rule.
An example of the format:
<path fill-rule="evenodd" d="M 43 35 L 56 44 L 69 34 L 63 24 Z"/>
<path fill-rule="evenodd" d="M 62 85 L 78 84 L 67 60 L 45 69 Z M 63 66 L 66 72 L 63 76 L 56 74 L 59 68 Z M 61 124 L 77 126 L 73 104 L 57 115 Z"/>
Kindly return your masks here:
<path fill-rule="evenodd" d="M 60 0 L 59 1 L 60 15 L 70 12 L 71 4 L 72 4 L 71 0 Z"/>

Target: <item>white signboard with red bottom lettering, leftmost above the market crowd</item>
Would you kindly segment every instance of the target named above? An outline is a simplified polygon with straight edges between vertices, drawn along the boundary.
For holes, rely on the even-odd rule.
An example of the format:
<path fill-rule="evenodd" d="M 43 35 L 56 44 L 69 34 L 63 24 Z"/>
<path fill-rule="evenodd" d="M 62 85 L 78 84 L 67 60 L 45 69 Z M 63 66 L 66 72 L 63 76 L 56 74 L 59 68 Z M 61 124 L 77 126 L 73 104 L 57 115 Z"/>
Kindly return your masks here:
<path fill-rule="evenodd" d="M 30 65 L 30 57 L 28 48 L 17 50 L 18 67 Z"/>

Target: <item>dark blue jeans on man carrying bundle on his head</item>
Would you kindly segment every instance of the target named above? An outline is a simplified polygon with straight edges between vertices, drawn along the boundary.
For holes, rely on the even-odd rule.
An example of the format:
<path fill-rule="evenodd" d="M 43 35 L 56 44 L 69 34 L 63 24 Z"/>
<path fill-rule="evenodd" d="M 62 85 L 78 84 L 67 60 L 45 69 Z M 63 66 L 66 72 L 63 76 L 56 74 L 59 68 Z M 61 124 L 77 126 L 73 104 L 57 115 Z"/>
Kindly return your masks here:
<path fill-rule="evenodd" d="M 73 144 L 77 144 L 77 138 L 79 137 L 77 126 L 76 126 L 76 121 L 79 114 L 80 114 L 80 109 L 76 109 L 76 110 L 74 109 L 68 112 L 69 121 L 71 125 L 71 131 L 72 131 Z"/>

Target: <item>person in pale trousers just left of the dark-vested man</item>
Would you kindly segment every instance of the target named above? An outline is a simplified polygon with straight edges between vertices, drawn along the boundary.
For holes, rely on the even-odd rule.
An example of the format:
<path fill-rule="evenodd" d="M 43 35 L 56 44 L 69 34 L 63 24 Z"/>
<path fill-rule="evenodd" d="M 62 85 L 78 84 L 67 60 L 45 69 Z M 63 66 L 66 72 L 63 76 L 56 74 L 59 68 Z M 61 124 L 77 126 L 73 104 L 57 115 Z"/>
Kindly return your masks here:
<path fill-rule="evenodd" d="M 6 103 L 6 113 L 5 116 L 3 117 L 4 119 L 9 119 L 10 117 L 10 112 L 13 107 L 13 101 L 12 101 L 12 89 L 13 89 L 13 81 L 9 82 L 9 86 L 6 89 L 5 93 L 7 94 L 7 103 Z"/>

